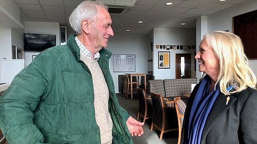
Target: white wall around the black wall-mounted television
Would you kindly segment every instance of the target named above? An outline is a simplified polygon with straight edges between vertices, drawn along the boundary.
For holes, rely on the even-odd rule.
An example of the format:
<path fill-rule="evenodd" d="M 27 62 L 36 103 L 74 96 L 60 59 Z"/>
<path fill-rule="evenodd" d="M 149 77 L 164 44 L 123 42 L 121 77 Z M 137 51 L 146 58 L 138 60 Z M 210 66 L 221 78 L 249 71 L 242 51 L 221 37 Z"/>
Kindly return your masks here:
<path fill-rule="evenodd" d="M 56 45 L 60 45 L 60 24 L 50 22 L 24 22 L 24 33 L 40 33 L 56 35 Z M 32 61 L 32 55 L 38 55 L 40 52 L 25 51 L 25 67 Z"/>

